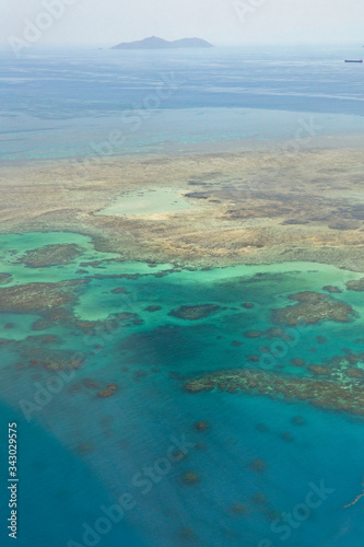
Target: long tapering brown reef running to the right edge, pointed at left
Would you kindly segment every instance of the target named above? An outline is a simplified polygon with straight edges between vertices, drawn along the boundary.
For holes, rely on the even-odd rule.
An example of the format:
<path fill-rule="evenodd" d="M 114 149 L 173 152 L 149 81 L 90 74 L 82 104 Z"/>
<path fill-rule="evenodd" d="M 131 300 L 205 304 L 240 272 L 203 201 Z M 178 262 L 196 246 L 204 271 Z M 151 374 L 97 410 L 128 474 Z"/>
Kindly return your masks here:
<path fill-rule="evenodd" d="M 307 400 L 312 405 L 329 410 L 349 411 L 364 415 L 364 384 L 350 381 L 344 383 L 317 381 L 306 377 L 292 377 L 270 374 L 259 370 L 227 370 L 206 374 L 187 382 L 189 393 L 244 392 L 272 398 Z"/>

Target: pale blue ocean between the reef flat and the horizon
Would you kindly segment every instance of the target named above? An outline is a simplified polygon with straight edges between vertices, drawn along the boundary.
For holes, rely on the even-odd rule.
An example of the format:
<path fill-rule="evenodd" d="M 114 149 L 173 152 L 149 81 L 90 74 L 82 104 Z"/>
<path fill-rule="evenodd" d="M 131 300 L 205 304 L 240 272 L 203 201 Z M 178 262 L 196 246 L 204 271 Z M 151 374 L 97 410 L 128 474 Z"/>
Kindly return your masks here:
<path fill-rule="evenodd" d="M 363 67 L 343 62 L 361 56 L 352 45 L 3 53 L 1 158 L 219 151 L 297 135 L 302 147 L 342 147 L 362 137 Z"/>

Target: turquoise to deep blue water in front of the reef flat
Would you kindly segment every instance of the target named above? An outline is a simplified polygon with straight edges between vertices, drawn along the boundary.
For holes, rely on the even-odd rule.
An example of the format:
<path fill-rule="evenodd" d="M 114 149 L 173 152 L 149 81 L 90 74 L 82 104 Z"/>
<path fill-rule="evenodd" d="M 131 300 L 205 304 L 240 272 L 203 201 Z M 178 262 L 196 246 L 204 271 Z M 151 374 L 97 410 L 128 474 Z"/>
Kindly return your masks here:
<path fill-rule="evenodd" d="M 307 328 L 268 370 L 300 377 L 307 371 L 292 366 L 292 359 L 321 364 L 343 356 L 345 348 L 363 351 L 364 293 L 345 290 L 345 282 L 361 275 L 307 263 L 210 270 L 118 263 L 96 252 L 90 238 L 70 233 L 2 235 L 0 243 L 0 271 L 11 268 L 13 276 L 2 289 L 35 281 L 35 276 L 43 282 L 86 280 L 64 304 L 66 316 L 1 314 L 2 325 L 12 323 L 1 331 L 9 340 L 0 345 L 1 400 L 5 419 L 19 422 L 19 545 L 58 547 L 70 539 L 82 545 L 83 523 L 93 526 L 104 515 L 101 508 L 115 504 L 124 492 L 136 505 L 101 536 L 99 545 L 256 547 L 270 545 L 260 543 L 266 538 L 274 546 L 361 545 L 361 502 L 342 509 L 362 491 L 360 417 L 308 401 L 184 389 L 186 381 L 203 373 L 259 366 L 249 356 L 272 353 L 274 339 L 267 333 L 258 339 L 244 334 L 274 326 L 271 310 L 287 305 L 290 294 L 322 292 L 327 284 L 343 291 L 332 298 L 352 305 L 355 318 Z M 82 254 L 61 266 L 21 263 L 25 249 L 55 243 L 77 243 Z M 86 258 L 96 267 L 77 274 Z M 243 307 L 245 302 L 254 307 Z M 196 321 L 169 315 L 180 305 L 206 303 L 220 309 Z M 161 309 L 146 311 L 152 305 Z M 117 316 L 121 313 L 134 315 L 125 321 Z M 45 330 L 32 330 L 47 316 Z M 57 338 L 45 344 L 49 335 Z M 82 366 L 70 380 L 70 371 L 59 380 L 60 371 L 32 366 L 34 350 L 40 361 L 62 352 L 80 359 L 81 353 Z M 48 400 L 50 377 L 60 388 Z M 98 387 L 90 387 L 90 380 Z M 115 394 L 97 397 L 110 384 L 118 387 Z M 42 387 L 46 394 L 39 399 Z M 39 400 L 46 403 L 28 405 Z M 200 420 L 209 422 L 206 431 L 196 429 Z M 184 438 L 186 457 L 163 467 L 161 458 Z M 251 467 L 257 458 L 265 461 L 265 470 Z M 141 482 L 153 465 L 161 465 L 163 474 L 153 486 Z M 184 484 L 189 470 L 198 475 L 196 484 Z M 294 520 L 296 527 L 282 540 L 282 514 L 304 503 L 312 484 L 321 480 L 330 490 L 327 498 L 302 522 Z M 234 511 L 236 504 L 244 512 Z"/>

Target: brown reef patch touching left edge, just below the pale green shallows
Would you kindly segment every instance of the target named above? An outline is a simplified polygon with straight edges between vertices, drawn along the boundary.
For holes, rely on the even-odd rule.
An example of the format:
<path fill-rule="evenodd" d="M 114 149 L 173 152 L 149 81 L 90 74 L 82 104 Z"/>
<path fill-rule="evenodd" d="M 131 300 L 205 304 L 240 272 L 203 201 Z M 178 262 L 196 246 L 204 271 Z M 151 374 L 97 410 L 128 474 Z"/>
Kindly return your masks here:
<path fill-rule="evenodd" d="M 74 298 L 72 289 L 84 280 L 27 283 L 0 289 L 2 313 L 28 313 L 59 307 Z"/>

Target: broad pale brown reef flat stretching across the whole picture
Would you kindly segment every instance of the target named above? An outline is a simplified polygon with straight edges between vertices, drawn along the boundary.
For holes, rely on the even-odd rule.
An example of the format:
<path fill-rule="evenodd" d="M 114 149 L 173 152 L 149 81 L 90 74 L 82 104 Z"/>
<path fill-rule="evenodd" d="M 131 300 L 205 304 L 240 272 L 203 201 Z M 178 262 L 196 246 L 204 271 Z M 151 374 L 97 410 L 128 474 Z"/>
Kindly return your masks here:
<path fill-rule="evenodd" d="M 0 231 L 47 232 L 51 225 L 90 235 L 98 251 L 120 259 L 149 263 L 305 260 L 363 271 L 362 154 L 355 148 L 278 149 L 4 166 Z M 150 201 L 144 212 L 132 214 L 129 206 L 118 212 L 115 203 L 136 196 Z M 70 251 L 59 249 L 60 259 Z M 54 252 L 28 260 L 37 267 Z"/>

